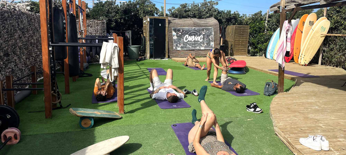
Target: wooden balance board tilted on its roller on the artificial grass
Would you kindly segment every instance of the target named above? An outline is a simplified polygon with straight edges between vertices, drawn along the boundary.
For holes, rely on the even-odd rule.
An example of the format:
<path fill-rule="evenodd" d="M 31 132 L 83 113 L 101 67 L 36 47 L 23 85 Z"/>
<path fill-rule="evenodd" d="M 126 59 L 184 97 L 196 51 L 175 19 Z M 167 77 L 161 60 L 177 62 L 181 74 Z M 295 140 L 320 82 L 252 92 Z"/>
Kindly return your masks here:
<path fill-rule="evenodd" d="M 91 128 L 94 125 L 94 117 L 121 118 L 116 112 L 98 109 L 70 108 L 70 113 L 81 117 L 79 119 L 79 125 L 82 129 Z"/>

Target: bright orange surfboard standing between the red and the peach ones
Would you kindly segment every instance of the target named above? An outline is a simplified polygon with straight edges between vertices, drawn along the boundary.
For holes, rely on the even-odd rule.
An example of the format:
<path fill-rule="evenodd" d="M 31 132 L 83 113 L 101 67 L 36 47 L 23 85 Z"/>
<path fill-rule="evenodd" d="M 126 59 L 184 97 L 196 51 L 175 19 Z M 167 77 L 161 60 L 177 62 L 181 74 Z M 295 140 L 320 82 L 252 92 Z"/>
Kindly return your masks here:
<path fill-rule="evenodd" d="M 298 63 L 299 53 L 300 53 L 300 44 L 302 39 L 302 32 L 304 28 L 304 24 L 306 21 L 306 18 L 308 17 L 308 14 L 304 14 L 297 25 L 297 32 L 295 33 L 294 38 L 294 49 L 293 49 L 293 58 L 294 62 Z"/>

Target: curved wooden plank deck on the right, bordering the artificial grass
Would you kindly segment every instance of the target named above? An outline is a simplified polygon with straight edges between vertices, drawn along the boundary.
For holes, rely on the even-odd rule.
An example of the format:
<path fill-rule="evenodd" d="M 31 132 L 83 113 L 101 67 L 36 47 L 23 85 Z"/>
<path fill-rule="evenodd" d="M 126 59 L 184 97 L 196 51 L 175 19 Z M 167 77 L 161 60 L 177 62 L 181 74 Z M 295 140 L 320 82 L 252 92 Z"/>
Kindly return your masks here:
<path fill-rule="evenodd" d="M 278 69 L 275 60 L 264 57 L 235 56 L 245 60 L 248 68 L 277 75 L 268 71 Z M 206 58 L 198 58 L 203 62 Z M 173 58 L 184 62 L 186 58 Z M 330 66 L 301 66 L 285 63 L 285 70 L 320 77 L 304 78 L 285 74 L 295 80 L 295 86 L 276 95 L 270 105 L 270 116 L 275 133 L 296 155 L 346 155 L 346 71 Z M 277 82 L 277 79 L 276 79 Z M 264 82 L 263 82 L 264 83 Z M 329 151 L 314 151 L 299 143 L 299 138 L 323 135 L 329 141 Z"/>

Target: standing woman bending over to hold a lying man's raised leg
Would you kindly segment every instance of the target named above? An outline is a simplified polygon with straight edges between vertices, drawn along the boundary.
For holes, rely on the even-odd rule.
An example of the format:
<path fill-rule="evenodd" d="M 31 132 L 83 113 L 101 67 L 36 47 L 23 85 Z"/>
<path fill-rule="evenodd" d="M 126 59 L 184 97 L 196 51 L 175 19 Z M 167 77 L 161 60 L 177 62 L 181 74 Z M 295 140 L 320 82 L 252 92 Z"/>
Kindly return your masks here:
<path fill-rule="evenodd" d="M 227 72 L 227 66 L 222 66 L 222 67 L 219 66 L 220 58 L 221 58 L 221 61 L 226 62 L 224 52 L 220 51 L 220 49 L 218 49 L 218 48 L 211 49 L 207 54 L 207 79 L 206 79 L 206 81 L 209 81 L 211 63 L 213 63 L 214 64 L 213 84 L 216 84 L 216 85 L 218 84 L 218 83 L 216 83 L 216 77 L 218 74 L 218 69 Z"/>

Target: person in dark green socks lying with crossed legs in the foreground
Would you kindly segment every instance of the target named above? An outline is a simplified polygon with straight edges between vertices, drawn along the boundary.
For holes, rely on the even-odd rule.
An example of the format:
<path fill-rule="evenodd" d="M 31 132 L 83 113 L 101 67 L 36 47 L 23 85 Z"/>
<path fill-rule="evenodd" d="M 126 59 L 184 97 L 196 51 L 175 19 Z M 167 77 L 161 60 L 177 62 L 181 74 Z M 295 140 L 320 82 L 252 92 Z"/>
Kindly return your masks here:
<path fill-rule="evenodd" d="M 206 93 L 207 86 L 204 85 L 198 96 L 202 110 L 200 122 L 197 120 L 197 111 L 192 110 L 192 124 L 195 126 L 191 128 L 188 134 L 189 152 L 195 152 L 197 155 L 235 155 L 225 143 L 216 115 L 209 109 L 204 100 Z M 215 130 L 211 128 L 213 125 Z"/>

